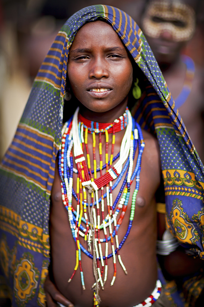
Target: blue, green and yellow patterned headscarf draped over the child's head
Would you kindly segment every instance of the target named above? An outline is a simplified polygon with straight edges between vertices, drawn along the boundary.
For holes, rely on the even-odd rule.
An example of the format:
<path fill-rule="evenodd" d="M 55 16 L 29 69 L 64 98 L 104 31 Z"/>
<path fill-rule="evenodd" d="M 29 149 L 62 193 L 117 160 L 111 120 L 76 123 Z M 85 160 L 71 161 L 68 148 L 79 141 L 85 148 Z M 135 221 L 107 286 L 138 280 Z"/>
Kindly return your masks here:
<path fill-rule="evenodd" d="M 154 55 L 130 16 L 111 6 L 89 6 L 70 17 L 57 34 L 0 165 L 0 256 L 13 307 L 36 302 L 45 306 L 50 193 L 61 143 L 69 47 L 80 27 L 99 17 L 113 27 L 144 73 L 140 83 L 146 89 L 134 112 L 142 128 L 158 138 L 168 227 L 181 243 L 204 257 L 203 166 Z"/>

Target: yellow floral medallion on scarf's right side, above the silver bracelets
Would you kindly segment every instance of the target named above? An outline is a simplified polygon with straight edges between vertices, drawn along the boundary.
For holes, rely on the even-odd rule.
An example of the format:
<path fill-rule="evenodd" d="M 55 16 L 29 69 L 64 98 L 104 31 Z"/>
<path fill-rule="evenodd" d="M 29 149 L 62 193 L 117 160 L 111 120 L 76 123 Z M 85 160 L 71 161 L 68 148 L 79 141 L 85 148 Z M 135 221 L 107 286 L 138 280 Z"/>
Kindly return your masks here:
<path fill-rule="evenodd" d="M 169 230 L 181 243 L 196 244 L 198 231 L 182 208 L 182 201 L 179 198 L 173 200 L 170 215 L 166 215 L 166 224 Z M 173 226 L 170 227 L 170 224 Z"/>

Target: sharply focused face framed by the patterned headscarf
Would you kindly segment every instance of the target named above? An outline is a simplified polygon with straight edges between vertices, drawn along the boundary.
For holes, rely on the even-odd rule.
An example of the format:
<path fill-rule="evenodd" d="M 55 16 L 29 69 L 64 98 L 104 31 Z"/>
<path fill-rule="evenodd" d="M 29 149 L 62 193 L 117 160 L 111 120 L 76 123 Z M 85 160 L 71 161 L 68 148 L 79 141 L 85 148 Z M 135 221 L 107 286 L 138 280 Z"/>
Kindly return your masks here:
<path fill-rule="evenodd" d="M 132 64 L 113 28 L 103 21 L 83 25 L 69 52 L 68 78 L 87 112 L 125 110 L 132 85 Z"/>

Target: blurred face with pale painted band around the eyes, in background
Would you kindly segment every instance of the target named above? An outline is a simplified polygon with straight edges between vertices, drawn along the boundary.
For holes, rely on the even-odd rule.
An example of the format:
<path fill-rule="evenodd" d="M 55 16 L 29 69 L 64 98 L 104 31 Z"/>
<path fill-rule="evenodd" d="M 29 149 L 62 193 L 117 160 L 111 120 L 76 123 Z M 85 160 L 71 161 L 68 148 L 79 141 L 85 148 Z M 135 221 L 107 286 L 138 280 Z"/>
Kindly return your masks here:
<path fill-rule="evenodd" d="M 158 63 L 171 63 L 195 32 L 195 12 L 180 0 L 152 1 L 142 27 Z"/>

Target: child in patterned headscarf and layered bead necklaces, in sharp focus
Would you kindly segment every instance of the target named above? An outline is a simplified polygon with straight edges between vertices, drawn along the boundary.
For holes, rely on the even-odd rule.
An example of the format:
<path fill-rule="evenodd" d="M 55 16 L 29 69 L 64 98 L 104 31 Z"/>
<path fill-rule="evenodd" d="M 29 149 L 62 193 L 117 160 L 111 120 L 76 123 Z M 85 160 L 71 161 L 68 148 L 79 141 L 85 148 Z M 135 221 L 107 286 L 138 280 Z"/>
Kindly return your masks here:
<path fill-rule="evenodd" d="M 76 307 L 168 306 L 155 251 L 161 168 L 167 227 L 202 258 L 202 165 L 149 45 L 124 12 L 80 10 L 39 69 L 1 165 L 2 190 L 14 191 L 2 193 L 13 306 L 45 304 L 49 226 L 51 287 L 59 293 L 46 290 L 48 306 L 53 298 L 68 304 L 63 297 Z M 177 247 L 175 238 L 168 243 L 165 253 Z"/>

